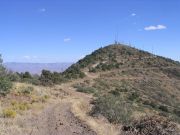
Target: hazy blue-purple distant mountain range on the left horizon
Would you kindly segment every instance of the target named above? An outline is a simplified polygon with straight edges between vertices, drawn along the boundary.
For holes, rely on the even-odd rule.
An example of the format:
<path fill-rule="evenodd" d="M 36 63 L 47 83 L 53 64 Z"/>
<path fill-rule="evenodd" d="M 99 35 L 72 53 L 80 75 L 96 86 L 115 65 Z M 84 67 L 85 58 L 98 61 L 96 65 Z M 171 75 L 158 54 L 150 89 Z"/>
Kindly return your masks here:
<path fill-rule="evenodd" d="M 43 69 L 50 71 L 63 72 L 73 63 L 18 63 L 8 62 L 4 66 L 13 72 L 30 72 L 31 74 L 40 74 Z"/>

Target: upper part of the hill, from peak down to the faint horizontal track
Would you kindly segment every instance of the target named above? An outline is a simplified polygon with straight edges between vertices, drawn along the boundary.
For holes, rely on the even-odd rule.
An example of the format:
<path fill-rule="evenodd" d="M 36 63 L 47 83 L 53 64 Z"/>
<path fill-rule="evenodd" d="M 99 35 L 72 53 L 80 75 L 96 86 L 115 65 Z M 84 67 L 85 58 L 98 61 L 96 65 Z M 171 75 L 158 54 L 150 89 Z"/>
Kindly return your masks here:
<path fill-rule="evenodd" d="M 101 72 L 125 68 L 166 68 L 179 67 L 178 61 L 157 56 L 123 44 L 99 48 L 69 67 L 64 74 L 76 71 Z M 82 74 L 82 73 L 81 73 Z"/>

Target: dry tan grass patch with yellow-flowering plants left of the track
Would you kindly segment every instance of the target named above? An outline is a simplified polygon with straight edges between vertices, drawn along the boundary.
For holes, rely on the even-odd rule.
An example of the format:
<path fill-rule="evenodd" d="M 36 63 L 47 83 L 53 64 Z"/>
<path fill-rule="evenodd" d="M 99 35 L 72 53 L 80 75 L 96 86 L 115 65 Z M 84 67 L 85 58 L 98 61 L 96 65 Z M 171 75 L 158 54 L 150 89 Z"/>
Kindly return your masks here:
<path fill-rule="evenodd" d="M 24 90 L 31 88 L 31 92 Z M 15 83 L 10 94 L 0 99 L 0 135 L 29 135 L 24 119 L 37 116 L 51 100 L 50 89 Z"/>

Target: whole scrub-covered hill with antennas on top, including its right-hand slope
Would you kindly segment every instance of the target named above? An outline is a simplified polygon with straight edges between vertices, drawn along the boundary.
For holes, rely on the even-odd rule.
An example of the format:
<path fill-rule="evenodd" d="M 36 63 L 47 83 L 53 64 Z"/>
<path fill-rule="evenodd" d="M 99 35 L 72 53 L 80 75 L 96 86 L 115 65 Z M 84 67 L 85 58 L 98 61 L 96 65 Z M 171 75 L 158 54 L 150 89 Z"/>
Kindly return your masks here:
<path fill-rule="evenodd" d="M 99 75 L 74 85 L 77 91 L 94 95 L 93 116 L 129 124 L 144 115 L 157 115 L 180 123 L 179 62 L 126 45 L 109 45 L 63 74 Z"/>

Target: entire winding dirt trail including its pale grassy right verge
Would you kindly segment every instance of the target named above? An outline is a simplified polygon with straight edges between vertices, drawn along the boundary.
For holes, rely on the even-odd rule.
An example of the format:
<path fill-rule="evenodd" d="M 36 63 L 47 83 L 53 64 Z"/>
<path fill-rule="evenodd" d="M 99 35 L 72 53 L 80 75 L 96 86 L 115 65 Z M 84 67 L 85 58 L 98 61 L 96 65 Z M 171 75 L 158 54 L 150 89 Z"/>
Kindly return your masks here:
<path fill-rule="evenodd" d="M 94 77 L 90 77 L 94 79 Z M 55 86 L 65 97 L 55 100 L 32 120 L 33 129 L 29 135 L 117 135 L 117 127 L 103 118 L 88 115 L 92 105 L 91 95 L 77 92 L 72 85 L 76 80 Z"/>

